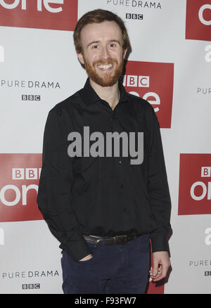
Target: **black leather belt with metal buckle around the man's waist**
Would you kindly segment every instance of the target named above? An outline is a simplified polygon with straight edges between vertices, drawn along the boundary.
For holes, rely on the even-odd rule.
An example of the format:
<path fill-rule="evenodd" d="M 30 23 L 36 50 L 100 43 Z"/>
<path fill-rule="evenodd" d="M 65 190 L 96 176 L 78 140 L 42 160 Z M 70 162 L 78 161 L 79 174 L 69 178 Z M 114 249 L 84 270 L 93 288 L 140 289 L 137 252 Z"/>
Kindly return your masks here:
<path fill-rule="evenodd" d="M 84 236 L 85 240 L 95 243 L 98 246 L 103 245 L 103 239 L 104 239 L 104 245 L 122 245 L 124 243 L 129 242 L 129 240 L 134 240 L 134 238 L 137 238 L 138 236 L 110 236 L 110 237 L 102 237 L 102 236 Z"/>

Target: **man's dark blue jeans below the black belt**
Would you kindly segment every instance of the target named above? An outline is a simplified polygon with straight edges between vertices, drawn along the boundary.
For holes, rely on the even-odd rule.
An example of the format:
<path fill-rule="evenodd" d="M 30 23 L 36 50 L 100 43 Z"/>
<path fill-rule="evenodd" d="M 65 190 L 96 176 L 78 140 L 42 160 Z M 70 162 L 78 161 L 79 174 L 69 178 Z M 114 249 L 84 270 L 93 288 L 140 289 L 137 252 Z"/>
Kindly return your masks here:
<path fill-rule="evenodd" d="M 143 294 L 148 283 L 150 245 L 147 235 L 124 245 L 89 244 L 93 257 L 77 262 L 63 251 L 65 294 Z"/>

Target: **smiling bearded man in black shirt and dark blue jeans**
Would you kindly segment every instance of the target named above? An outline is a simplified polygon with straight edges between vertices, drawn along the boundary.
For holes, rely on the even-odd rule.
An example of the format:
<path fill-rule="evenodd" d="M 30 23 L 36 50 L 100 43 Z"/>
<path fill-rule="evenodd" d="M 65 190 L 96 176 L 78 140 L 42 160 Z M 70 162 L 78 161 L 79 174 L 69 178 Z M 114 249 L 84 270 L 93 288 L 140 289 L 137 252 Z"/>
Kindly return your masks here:
<path fill-rule="evenodd" d="M 64 293 L 144 293 L 149 272 L 159 281 L 170 267 L 158 120 L 150 103 L 119 82 L 129 38 L 117 15 L 84 14 L 74 41 L 89 78 L 49 113 L 37 203 L 61 243 Z M 117 138 L 108 139 L 112 133 Z"/>

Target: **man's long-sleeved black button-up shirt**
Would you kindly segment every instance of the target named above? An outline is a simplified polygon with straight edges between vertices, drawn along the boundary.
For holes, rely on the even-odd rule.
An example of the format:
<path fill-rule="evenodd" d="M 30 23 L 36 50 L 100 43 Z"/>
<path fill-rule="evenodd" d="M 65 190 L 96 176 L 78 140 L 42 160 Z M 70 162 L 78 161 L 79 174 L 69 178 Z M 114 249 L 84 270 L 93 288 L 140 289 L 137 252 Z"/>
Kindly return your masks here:
<path fill-rule="evenodd" d="M 153 252 L 168 250 L 170 193 L 158 119 L 150 103 L 127 94 L 122 84 L 119 89 L 112 110 L 87 79 L 84 89 L 58 103 L 46 121 L 37 203 L 60 248 L 75 260 L 91 253 L 83 234 L 149 233 Z M 90 135 L 101 132 L 105 148 L 106 132 L 143 132 L 143 162 L 132 164 L 134 157 L 129 151 L 123 155 L 121 146 L 118 156 L 104 150 L 104 156 L 84 157 L 83 142 L 82 155 L 71 157 L 68 135 L 77 131 L 84 140 L 84 127 Z"/>

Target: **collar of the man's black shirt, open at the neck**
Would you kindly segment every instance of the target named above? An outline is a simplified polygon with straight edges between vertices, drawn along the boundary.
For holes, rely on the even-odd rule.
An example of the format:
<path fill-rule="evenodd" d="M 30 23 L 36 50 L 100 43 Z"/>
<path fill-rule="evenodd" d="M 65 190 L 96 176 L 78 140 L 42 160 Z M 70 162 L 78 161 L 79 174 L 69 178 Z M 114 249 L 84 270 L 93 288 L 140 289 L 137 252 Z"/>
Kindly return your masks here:
<path fill-rule="evenodd" d="M 127 92 L 125 91 L 124 86 L 120 81 L 119 81 L 119 89 L 120 89 L 120 103 L 128 101 Z M 98 96 L 98 94 L 96 94 L 96 91 L 94 91 L 93 87 L 91 86 L 89 78 L 87 78 L 87 82 L 85 83 L 84 88 L 81 91 L 81 95 L 83 101 L 87 105 L 91 103 L 96 103 L 96 101 L 101 101 L 101 98 Z"/>

